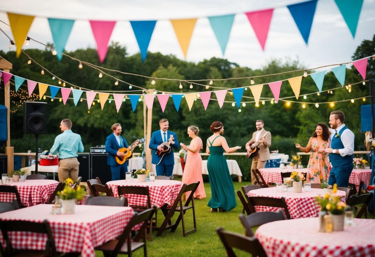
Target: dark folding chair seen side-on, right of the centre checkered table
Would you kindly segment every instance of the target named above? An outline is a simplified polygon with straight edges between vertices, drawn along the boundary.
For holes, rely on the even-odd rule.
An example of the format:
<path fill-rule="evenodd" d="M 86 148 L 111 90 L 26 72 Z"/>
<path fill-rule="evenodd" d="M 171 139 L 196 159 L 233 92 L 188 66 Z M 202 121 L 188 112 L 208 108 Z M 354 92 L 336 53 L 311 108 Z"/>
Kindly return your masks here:
<path fill-rule="evenodd" d="M 157 232 L 156 236 L 160 236 L 164 230 L 171 229 L 171 232 L 175 232 L 178 224 L 180 221 L 182 221 L 182 233 L 183 236 L 187 236 L 190 233 L 196 232 L 196 220 L 195 220 L 195 205 L 194 205 L 194 193 L 196 188 L 198 188 L 199 181 L 191 183 L 189 185 L 186 185 L 185 183 L 182 185 L 180 193 L 178 193 L 178 196 L 176 200 L 174 201 L 173 205 L 168 205 L 162 207 L 163 214 L 165 216 L 165 219 L 163 221 L 163 224 L 160 226 L 159 231 Z M 182 205 L 182 195 L 184 193 L 190 192 L 189 197 L 186 199 L 186 202 L 184 205 Z M 191 205 L 190 205 L 191 203 Z M 189 231 L 185 231 L 185 221 L 184 221 L 184 214 L 188 209 L 192 209 L 193 211 L 193 229 Z M 175 212 L 180 212 L 180 215 L 178 215 L 177 220 L 174 224 L 171 224 L 171 218 Z M 169 226 L 167 226 L 169 224 Z"/>

